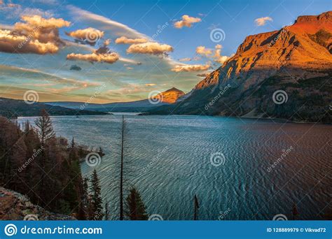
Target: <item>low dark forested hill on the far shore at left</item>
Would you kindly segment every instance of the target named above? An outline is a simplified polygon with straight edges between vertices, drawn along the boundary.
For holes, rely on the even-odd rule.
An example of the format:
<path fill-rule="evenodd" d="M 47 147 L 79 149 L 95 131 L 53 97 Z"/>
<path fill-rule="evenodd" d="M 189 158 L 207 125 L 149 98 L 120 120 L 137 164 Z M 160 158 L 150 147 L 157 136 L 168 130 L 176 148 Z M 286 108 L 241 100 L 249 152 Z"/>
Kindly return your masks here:
<path fill-rule="evenodd" d="M 0 98 L 0 115 L 4 117 L 39 116 L 41 109 L 46 109 L 50 115 L 107 115 L 106 113 L 90 110 L 72 110 L 44 103 L 27 104 L 22 100 Z"/>

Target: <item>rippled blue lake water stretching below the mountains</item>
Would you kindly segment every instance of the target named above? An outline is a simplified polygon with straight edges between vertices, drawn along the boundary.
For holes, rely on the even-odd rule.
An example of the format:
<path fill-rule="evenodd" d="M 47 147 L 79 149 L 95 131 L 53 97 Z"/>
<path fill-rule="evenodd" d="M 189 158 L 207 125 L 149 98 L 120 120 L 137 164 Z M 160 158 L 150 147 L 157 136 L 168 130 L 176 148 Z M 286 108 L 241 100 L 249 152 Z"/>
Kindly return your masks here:
<path fill-rule="evenodd" d="M 91 167 L 118 219 L 121 115 L 51 117 L 57 136 L 102 147 Z M 32 117 L 20 117 L 19 122 Z M 332 126 L 203 116 L 125 115 L 126 186 L 150 215 L 193 219 L 321 219 L 331 203 Z M 330 207 L 331 208 L 331 207 Z"/>

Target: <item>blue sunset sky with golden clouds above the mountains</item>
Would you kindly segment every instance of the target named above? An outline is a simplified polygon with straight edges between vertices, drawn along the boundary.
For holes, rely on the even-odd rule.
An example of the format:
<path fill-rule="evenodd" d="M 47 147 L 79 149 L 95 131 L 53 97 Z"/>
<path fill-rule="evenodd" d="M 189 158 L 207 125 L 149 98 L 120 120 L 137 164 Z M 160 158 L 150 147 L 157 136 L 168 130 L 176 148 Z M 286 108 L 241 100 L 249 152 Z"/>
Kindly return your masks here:
<path fill-rule="evenodd" d="M 246 36 L 328 10 L 331 0 L 0 0 L 0 97 L 111 103 L 187 93 Z"/>

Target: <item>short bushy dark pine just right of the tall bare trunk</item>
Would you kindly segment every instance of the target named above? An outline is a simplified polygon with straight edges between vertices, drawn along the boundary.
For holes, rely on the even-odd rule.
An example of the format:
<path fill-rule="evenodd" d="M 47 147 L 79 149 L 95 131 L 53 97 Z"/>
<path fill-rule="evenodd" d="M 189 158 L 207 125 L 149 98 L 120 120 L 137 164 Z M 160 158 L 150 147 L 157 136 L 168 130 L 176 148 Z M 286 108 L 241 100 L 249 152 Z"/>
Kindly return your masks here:
<path fill-rule="evenodd" d="M 132 187 L 130 194 L 127 196 L 127 210 L 126 216 L 130 220 L 147 220 L 146 207 L 141 199 L 139 191 Z"/>

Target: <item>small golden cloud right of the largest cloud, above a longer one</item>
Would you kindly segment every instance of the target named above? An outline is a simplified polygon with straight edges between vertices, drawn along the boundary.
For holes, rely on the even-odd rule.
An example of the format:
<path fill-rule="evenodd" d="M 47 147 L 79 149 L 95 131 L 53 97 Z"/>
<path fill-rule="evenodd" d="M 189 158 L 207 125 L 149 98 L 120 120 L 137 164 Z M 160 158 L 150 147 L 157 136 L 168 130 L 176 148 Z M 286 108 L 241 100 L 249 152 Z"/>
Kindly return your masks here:
<path fill-rule="evenodd" d="M 80 43 L 87 43 L 89 45 L 95 45 L 100 38 L 104 36 L 104 31 L 99 31 L 98 29 L 89 27 L 86 29 L 78 29 L 76 31 L 71 31 L 66 33 L 67 36 L 76 38 Z"/>

